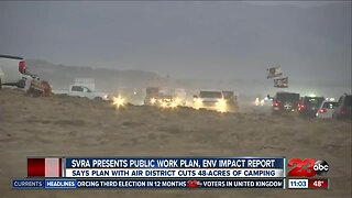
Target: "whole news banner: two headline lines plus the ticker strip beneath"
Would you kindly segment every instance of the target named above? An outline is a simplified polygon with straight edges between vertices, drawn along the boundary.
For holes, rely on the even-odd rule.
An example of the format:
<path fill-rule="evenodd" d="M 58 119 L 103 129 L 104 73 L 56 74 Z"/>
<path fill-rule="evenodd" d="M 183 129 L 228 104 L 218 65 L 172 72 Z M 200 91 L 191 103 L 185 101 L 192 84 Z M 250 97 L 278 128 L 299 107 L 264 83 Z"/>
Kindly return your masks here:
<path fill-rule="evenodd" d="M 286 188 L 285 157 L 29 157 L 12 189 Z"/>

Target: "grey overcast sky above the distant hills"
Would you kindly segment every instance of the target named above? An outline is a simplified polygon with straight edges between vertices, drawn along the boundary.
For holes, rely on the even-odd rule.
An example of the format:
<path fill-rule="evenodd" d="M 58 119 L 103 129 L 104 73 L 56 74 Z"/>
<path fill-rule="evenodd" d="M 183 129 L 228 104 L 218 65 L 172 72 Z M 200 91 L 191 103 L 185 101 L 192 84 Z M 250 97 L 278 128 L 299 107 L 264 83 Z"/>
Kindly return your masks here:
<path fill-rule="evenodd" d="M 0 29 L 0 54 L 55 64 L 351 82 L 351 1 L 1 1 Z"/>

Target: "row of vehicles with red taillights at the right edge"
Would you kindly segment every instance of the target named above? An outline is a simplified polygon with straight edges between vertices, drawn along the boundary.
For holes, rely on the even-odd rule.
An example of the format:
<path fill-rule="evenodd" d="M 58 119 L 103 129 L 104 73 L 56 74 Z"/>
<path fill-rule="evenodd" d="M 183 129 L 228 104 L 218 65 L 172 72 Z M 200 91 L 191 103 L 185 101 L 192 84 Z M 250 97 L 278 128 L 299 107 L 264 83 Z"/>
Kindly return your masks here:
<path fill-rule="evenodd" d="M 304 96 L 296 92 L 276 92 L 273 113 L 297 112 L 301 117 L 351 120 L 352 95 L 343 94 L 338 101 L 324 97 Z"/>

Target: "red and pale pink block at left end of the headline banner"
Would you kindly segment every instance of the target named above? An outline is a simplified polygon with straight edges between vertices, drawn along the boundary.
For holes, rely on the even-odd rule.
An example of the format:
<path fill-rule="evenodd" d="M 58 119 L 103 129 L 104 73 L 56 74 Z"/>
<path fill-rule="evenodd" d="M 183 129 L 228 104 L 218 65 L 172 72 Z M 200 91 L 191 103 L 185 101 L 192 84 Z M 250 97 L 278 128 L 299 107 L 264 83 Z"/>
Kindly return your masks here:
<path fill-rule="evenodd" d="M 28 158 L 28 177 L 61 177 L 61 158 Z"/>

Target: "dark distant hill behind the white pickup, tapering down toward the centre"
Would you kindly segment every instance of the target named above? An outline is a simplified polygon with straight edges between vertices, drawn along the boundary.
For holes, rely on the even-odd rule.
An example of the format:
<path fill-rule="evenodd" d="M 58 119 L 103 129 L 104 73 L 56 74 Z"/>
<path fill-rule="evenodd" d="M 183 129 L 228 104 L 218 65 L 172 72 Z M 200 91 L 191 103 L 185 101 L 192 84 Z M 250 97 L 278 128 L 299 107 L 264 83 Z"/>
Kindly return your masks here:
<path fill-rule="evenodd" d="M 165 78 L 144 70 L 117 70 L 52 64 L 41 59 L 26 59 L 28 70 L 48 80 L 54 89 L 67 89 L 75 78 L 94 78 L 97 89 L 116 91 L 119 87 L 160 86 Z"/>

